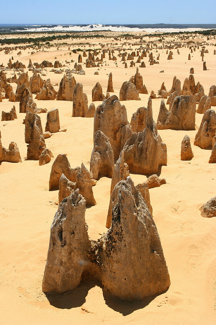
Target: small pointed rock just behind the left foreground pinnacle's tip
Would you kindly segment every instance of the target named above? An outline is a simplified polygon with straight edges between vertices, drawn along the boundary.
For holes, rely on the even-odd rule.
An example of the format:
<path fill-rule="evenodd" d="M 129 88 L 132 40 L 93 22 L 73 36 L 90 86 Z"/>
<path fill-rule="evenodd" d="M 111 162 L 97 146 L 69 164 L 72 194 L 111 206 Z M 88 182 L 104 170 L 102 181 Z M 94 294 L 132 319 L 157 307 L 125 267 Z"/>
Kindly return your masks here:
<path fill-rule="evenodd" d="M 91 176 L 88 169 L 85 167 L 84 163 L 81 164 L 81 171 L 77 173 L 75 188 L 79 189 L 80 194 L 85 198 L 86 205 L 96 205 L 94 199 L 92 185 L 91 185 Z"/>

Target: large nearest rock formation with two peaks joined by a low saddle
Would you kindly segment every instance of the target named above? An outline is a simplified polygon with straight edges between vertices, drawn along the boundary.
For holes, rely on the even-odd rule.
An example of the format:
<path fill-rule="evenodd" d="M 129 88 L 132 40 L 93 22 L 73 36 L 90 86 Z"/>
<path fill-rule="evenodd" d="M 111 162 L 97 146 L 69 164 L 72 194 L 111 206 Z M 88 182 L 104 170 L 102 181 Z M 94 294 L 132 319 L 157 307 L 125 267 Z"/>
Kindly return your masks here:
<path fill-rule="evenodd" d="M 75 190 L 54 216 L 42 282 L 43 292 L 66 292 L 84 274 L 98 278 L 105 290 L 123 300 L 141 300 L 164 292 L 170 277 L 156 225 L 130 177 L 119 184 L 112 224 L 90 240 L 85 199 Z"/>

